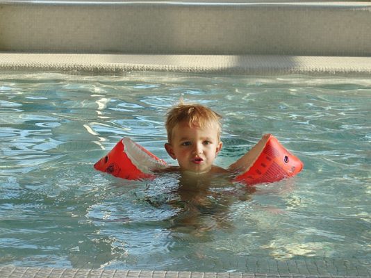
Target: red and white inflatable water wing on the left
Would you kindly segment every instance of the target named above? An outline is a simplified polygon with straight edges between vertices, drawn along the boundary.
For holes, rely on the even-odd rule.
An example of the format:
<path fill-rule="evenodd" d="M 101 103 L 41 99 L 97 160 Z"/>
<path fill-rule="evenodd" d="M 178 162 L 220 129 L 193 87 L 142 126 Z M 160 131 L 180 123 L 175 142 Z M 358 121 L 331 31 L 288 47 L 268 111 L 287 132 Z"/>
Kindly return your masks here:
<path fill-rule="evenodd" d="M 130 138 L 122 138 L 115 147 L 94 164 L 94 168 L 122 179 L 151 179 L 153 170 L 166 167 L 165 161 L 156 157 Z"/>

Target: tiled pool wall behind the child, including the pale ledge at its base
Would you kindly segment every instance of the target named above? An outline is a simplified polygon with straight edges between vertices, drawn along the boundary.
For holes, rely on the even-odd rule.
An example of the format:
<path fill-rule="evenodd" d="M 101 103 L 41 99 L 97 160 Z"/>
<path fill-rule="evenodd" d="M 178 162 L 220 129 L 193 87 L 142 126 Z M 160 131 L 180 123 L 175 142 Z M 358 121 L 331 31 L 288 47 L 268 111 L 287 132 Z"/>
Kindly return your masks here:
<path fill-rule="evenodd" d="M 3 70 L 370 74 L 370 56 L 370 1 L 0 1 Z"/>

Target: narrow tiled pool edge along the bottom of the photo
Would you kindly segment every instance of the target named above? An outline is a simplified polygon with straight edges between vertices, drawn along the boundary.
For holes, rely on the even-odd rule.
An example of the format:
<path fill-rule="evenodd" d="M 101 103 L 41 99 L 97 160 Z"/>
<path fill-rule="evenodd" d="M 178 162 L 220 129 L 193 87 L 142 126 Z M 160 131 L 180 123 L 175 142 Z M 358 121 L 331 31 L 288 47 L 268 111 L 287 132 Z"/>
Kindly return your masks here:
<path fill-rule="evenodd" d="M 77 269 L 77 268 L 25 268 L 14 266 L 0 267 L 2 278 L 327 278 L 332 275 L 271 275 L 241 272 L 188 272 L 188 271 L 159 271 L 159 270 L 106 270 L 106 269 Z M 349 276 L 336 276 L 338 278 Z M 352 276 L 365 277 L 365 276 Z"/>

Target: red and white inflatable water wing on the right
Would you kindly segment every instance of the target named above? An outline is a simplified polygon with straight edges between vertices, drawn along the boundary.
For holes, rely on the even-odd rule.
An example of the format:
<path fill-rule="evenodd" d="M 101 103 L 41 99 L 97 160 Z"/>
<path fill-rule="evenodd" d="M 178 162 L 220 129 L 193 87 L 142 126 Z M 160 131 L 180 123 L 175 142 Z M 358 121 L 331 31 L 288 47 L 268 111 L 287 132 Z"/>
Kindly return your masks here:
<path fill-rule="evenodd" d="M 229 166 L 229 170 L 237 173 L 235 180 L 247 185 L 293 177 L 302 168 L 302 161 L 271 134 L 265 134 L 247 154 Z"/>

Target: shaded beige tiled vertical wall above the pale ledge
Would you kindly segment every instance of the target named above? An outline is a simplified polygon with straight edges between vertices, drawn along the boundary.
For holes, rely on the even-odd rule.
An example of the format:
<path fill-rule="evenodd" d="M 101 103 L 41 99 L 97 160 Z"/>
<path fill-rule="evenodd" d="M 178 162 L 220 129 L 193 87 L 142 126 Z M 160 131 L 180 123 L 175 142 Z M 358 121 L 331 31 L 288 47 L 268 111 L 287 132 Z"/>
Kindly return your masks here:
<path fill-rule="evenodd" d="M 0 1 L 0 51 L 371 56 L 371 2 Z"/>

